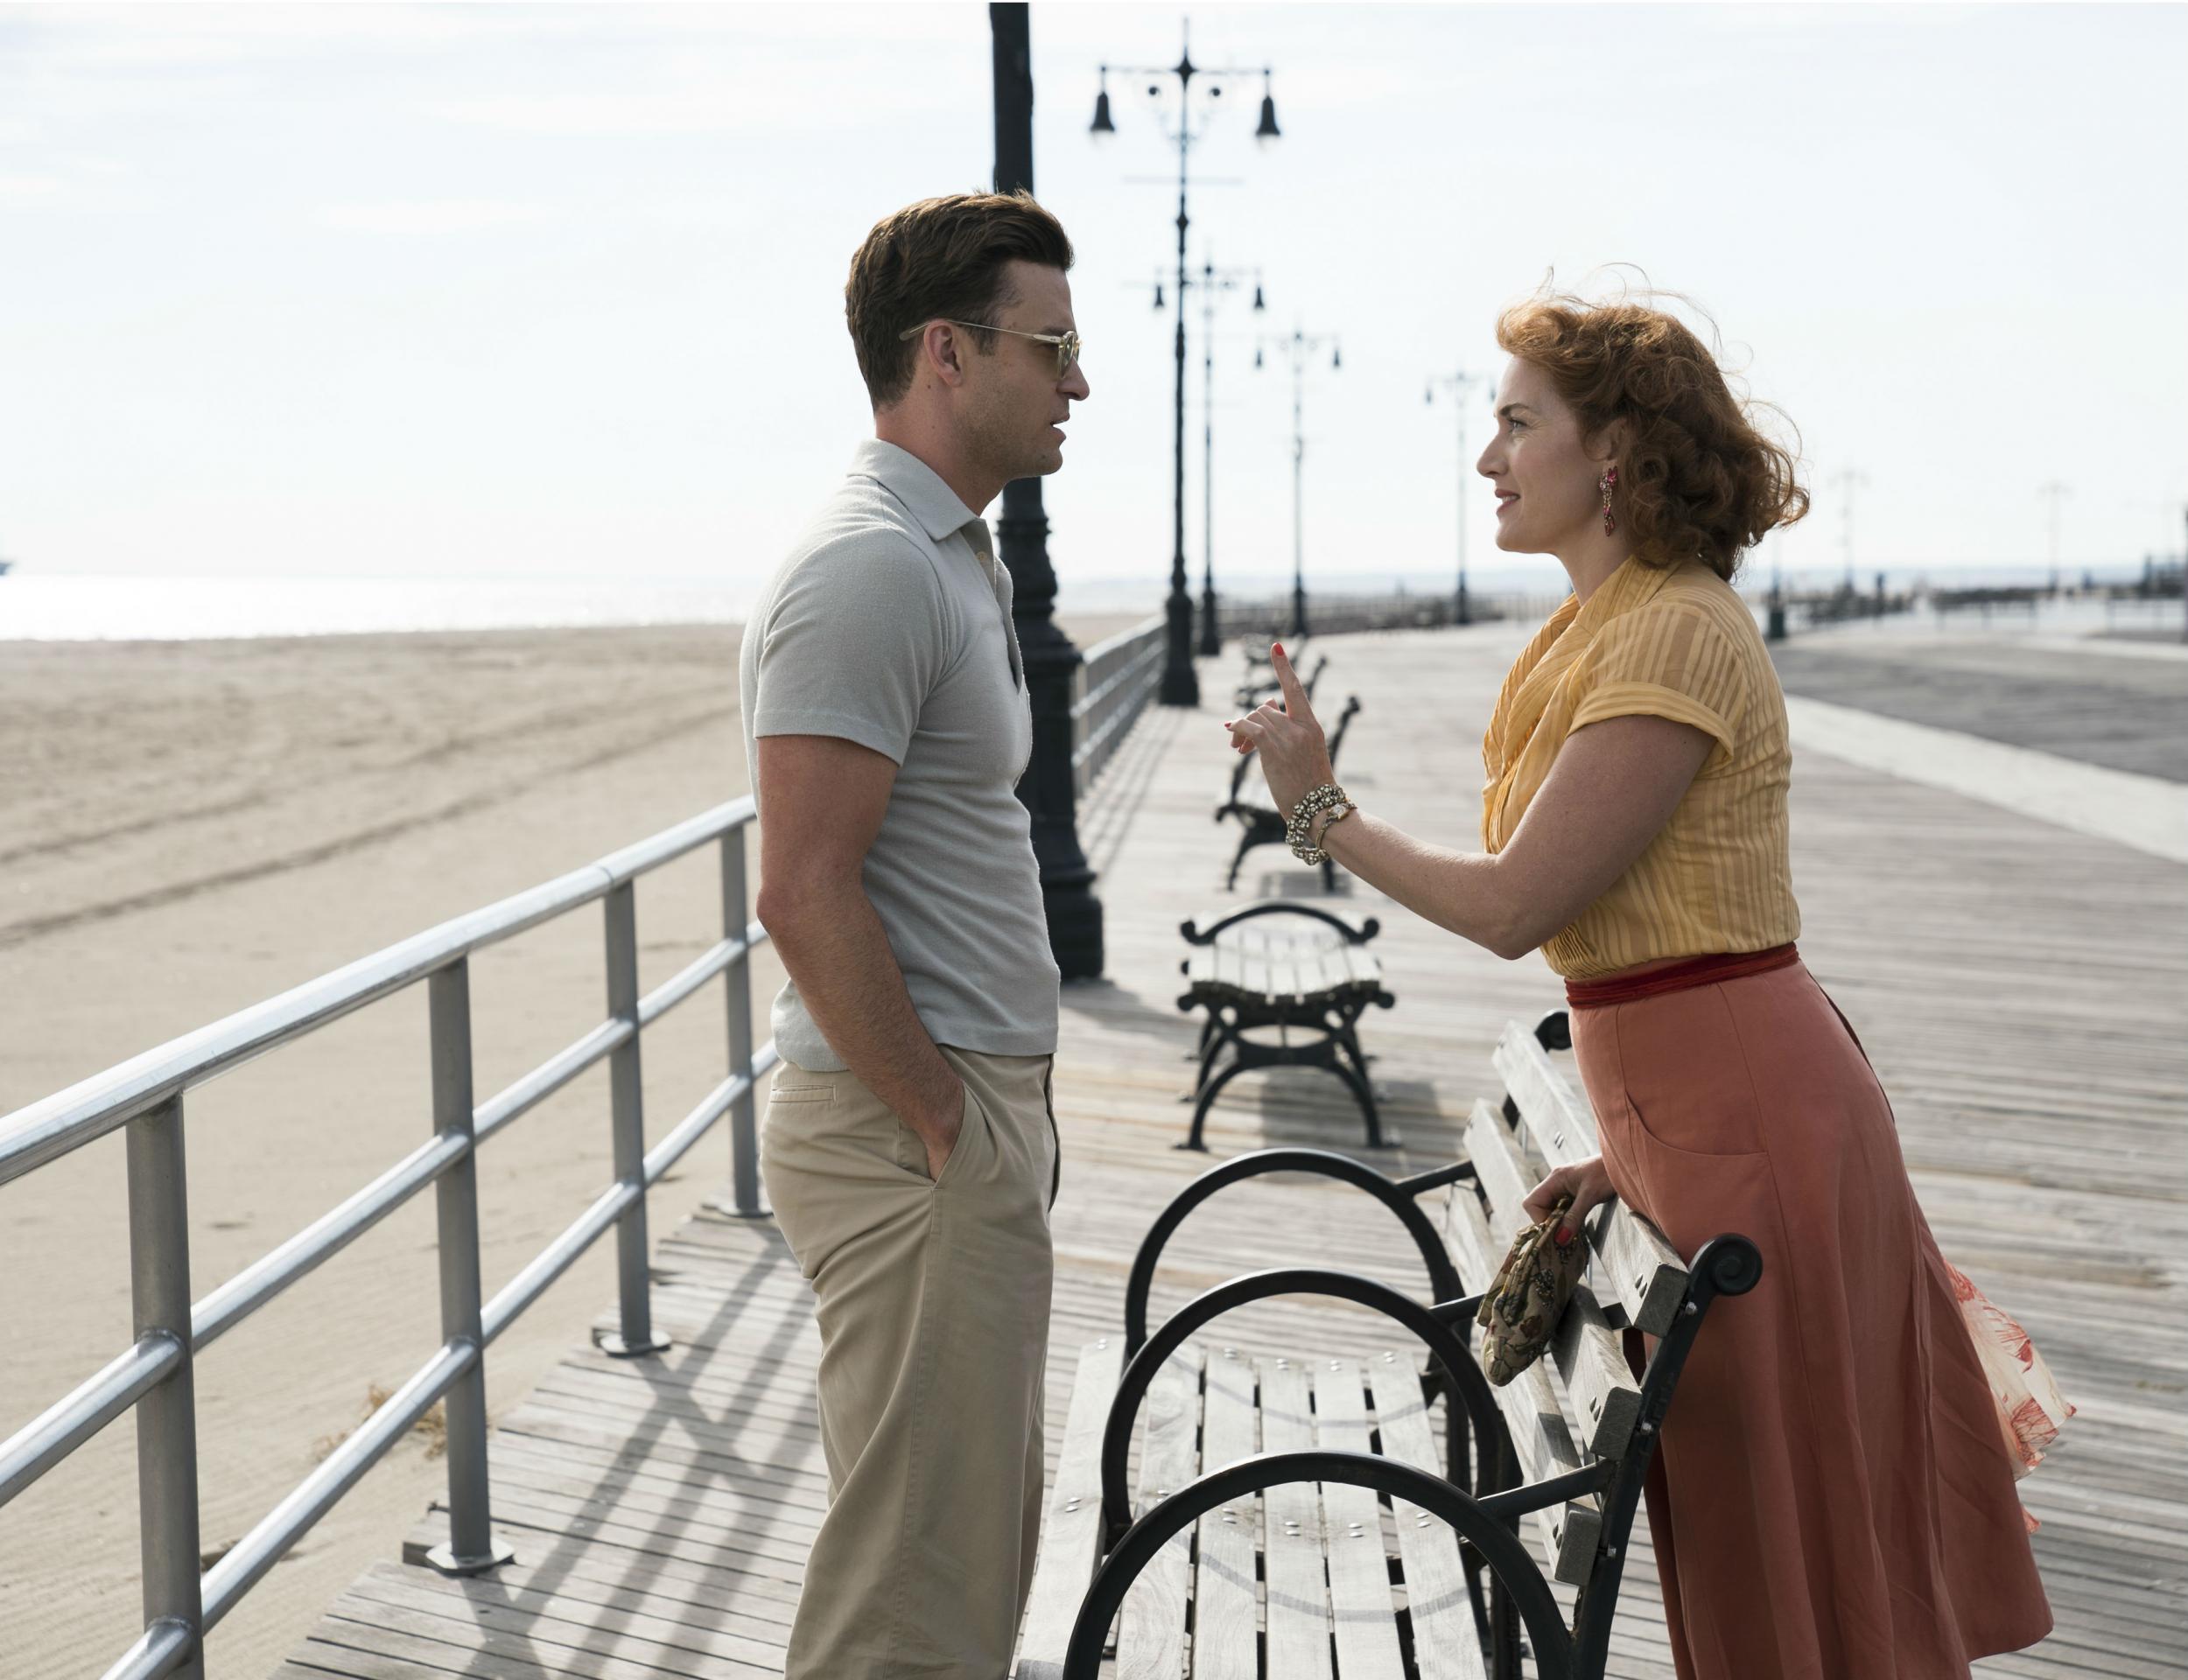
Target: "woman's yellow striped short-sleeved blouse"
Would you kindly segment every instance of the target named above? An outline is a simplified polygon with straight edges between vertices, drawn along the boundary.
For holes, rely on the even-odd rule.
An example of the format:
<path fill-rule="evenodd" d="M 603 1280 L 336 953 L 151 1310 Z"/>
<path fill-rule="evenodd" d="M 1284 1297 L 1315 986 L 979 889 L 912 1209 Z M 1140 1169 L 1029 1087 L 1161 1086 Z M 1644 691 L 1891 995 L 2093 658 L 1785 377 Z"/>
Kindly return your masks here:
<path fill-rule="evenodd" d="M 1648 851 L 1543 947 L 1549 967 L 1593 980 L 1792 941 L 1785 696 L 1755 615 L 1694 560 L 1667 571 L 1628 560 L 1527 643 L 1481 742 L 1481 842 L 1510 842 L 1567 735 L 1630 713 L 1694 724 L 1715 746 Z"/>

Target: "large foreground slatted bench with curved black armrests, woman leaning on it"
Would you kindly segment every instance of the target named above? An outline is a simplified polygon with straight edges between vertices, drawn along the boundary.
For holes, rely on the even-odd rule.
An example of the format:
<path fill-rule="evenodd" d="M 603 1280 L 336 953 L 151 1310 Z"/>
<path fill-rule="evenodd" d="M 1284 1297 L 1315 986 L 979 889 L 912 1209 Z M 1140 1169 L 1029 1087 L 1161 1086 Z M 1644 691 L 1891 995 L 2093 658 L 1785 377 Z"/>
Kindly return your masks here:
<path fill-rule="evenodd" d="M 1709 1306 L 1750 1291 L 1761 1256 L 1718 1236 L 1687 1267 L 1648 1221 L 1606 1203 L 1588 1218 L 1602 1293 L 1575 1291 L 1551 1352 L 1488 1385 L 1473 1317 L 1523 1218 L 1529 1155 L 1595 1153 L 1593 1113 L 1549 1057 L 1569 1043 L 1562 1013 L 1505 1028 L 1505 1098 L 1475 1105 L 1462 1162 L 1389 1179 L 1332 1151 L 1271 1148 L 1173 1199 L 1133 1260 L 1125 1328 L 1079 1356 L 1015 1680 L 1094 1680 L 1107 1654 L 1129 1676 L 1518 1680 L 1532 1658 L 1538 1680 L 1599 1680 L 1678 1372 Z M 1197 1205 L 1265 1172 L 1317 1172 L 1383 1203 L 1413 1236 L 1431 1304 L 1295 1267 L 1219 1284 L 1149 1334 L 1162 1245 Z M 1440 1227 L 1418 1201 L 1438 1188 Z M 1409 1343 L 1252 1358 L 1197 1341 L 1223 1312 L 1278 1295 L 1368 1306 Z M 1659 1339 L 1639 1380 L 1626 1330 Z"/>

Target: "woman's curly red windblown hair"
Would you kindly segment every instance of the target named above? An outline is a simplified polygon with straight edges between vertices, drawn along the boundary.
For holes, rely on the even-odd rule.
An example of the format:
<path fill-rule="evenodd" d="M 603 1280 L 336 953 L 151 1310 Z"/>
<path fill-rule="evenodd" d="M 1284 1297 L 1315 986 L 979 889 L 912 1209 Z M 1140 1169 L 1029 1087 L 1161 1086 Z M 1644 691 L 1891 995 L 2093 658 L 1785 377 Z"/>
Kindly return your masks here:
<path fill-rule="evenodd" d="M 1661 308 L 1529 298 L 1497 317 L 1497 343 L 1549 374 L 1582 438 L 1628 422 L 1619 501 L 1643 564 L 1691 556 L 1731 582 L 1768 532 L 1807 514 L 1799 457 L 1753 420 L 1770 405 L 1733 396 L 1718 359 Z"/>

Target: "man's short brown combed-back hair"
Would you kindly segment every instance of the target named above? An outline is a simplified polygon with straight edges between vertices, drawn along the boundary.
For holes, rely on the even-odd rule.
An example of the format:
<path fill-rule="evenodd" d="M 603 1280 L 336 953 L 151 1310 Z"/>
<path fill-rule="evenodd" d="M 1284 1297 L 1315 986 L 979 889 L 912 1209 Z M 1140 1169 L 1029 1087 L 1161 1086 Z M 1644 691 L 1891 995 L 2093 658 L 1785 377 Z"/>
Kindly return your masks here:
<path fill-rule="evenodd" d="M 919 341 L 904 341 L 908 328 L 936 319 L 985 326 L 1017 302 L 1002 276 L 1013 258 L 1048 269 L 1072 265 L 1063 223 L 1024 190 L 921 199 L 873 223 L 851 258 L 842 313 L 875 409 L 912 389 Z M 996 348 L 996 332 L 971 337 L 982 357 Z"/>

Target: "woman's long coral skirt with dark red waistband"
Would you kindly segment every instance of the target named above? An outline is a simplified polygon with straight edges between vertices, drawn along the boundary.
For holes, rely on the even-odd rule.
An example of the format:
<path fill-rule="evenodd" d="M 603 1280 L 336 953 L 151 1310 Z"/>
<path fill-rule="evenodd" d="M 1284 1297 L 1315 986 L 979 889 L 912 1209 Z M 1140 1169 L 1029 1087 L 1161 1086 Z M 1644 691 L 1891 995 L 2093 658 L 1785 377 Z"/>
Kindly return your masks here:
<path fill-rule="evenodd" d="M 2052 1617 L 1956 1273 L 1823 987 L 1790 947 L 1718 962 L 1700 984 L 1573 987 L 1571 1015 L 1619 1199 L 1687 1258 L 1720 1232 L 1764 1256 L 1709 1310 L 1650 1470 L 1672 1660 L 1680 1680 L 1960 1680 Z"/>

